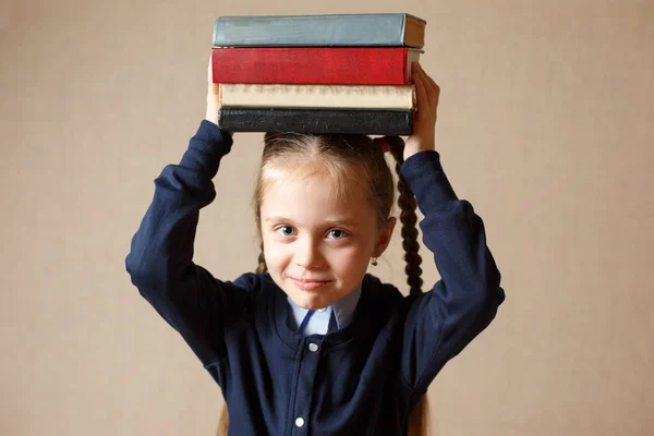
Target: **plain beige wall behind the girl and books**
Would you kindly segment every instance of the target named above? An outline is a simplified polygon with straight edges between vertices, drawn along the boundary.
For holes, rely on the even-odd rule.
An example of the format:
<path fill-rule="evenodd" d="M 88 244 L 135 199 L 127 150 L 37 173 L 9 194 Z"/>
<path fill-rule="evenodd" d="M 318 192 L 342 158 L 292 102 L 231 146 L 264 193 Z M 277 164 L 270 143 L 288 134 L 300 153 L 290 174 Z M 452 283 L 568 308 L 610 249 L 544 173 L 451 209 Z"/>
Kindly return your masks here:
<path fill-rule="evenodd" d="M 436 434 L 653 434 L 654 2 L 272 3 L 2 3 L 0 435 L 214 434 L 219 389 L 131 286 L 130 240 L 204 117 L 216 16 L 363 12 L 427 20 L 437 148 L 507 292 L 432 385 Z M 221 278 L 256 264 L 262 141 L 237 134 L 202 214 Z M 376 272 L 405 290 L 400 255 Z"/>

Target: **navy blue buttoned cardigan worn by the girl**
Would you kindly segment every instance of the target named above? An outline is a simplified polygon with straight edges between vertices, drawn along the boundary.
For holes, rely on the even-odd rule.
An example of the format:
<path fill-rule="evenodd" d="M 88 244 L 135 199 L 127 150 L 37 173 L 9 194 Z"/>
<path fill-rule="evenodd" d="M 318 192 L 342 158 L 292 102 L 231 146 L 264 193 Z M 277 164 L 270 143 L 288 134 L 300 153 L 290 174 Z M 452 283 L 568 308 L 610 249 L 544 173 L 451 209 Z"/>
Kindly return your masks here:
<path fill-rule="evenodd" d="M 482 219 L 458 199 L 437 152 L 411 156 L 401 171 L 441 280 L 403 296 L 366 275 L 351 324 L 303 337 L 268 275 L 219 280 L 193 262 L 199 209 L 216 197 L 231 146 L 203 120 L 180 164 L 164 168 L 125 259 L 132 282 L 220 386 L 230 435 L 404 435 L 429 383 L 505 299 Z"/>

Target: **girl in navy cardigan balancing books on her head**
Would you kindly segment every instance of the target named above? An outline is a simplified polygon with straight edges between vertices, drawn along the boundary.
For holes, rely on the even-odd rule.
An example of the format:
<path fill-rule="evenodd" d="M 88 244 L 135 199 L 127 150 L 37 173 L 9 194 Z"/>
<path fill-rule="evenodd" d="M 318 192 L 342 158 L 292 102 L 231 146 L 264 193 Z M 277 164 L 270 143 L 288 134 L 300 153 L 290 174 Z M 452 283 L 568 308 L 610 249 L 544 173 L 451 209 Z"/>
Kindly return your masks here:
<path fill-rule="evenodd" d="M 193 262 L 199 209 L 214 201 L 213 178 L 232 146 L 217 126 L 209 71 L 207 117 L 180 164 L 155 180 L 125 262 L 220 386 L 230 435 L 425 434 L 427 387 L 502 303 L 483 221 L 435 150 L 439 88 L 417 63 L 413 71 L 417 111 L 405 143 L 265 135 L 254 195 L 259 266 L 233 281 Z M 397 161 L 408 296 L 366 272 L 396 225 L 384 149 Z M 425 293 L 416 201 L 441 277 Z"/>

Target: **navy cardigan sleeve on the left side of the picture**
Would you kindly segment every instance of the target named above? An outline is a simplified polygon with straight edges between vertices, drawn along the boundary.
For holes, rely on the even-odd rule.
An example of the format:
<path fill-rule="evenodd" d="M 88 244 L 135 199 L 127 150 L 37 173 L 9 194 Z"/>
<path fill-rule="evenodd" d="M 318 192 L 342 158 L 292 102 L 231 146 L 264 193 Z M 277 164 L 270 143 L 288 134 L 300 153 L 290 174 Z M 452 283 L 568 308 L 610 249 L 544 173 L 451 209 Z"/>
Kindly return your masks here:
<path fill-rule="evenodd" d="M 155 193 L 132 238 L 125 268 L 141 295 L 174 328 L 203 364 L 226 353 L 223 331 L 245 304 L 246 280 L 219 281 L 193 263 L 199 209 L 216 197 L 213 178 L 231 135 L 203 120 L 179 165 L 155 179 Z"/>

